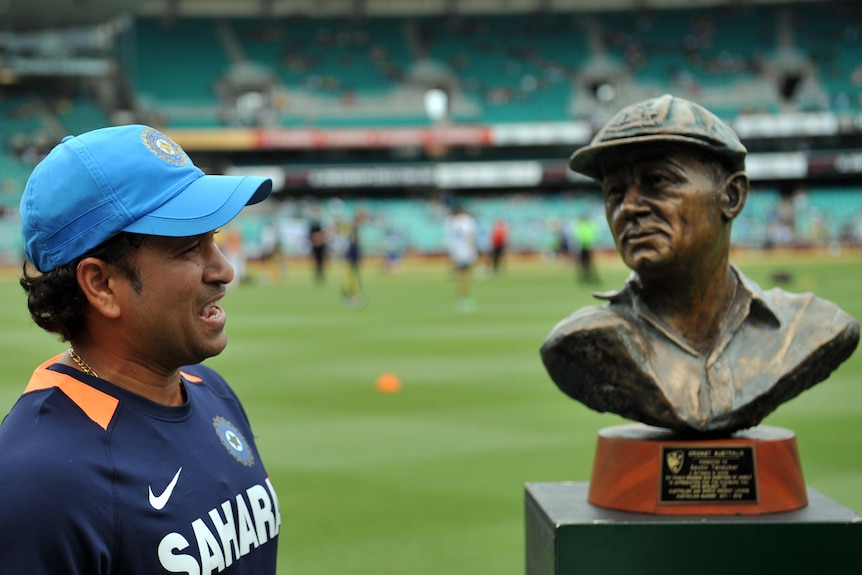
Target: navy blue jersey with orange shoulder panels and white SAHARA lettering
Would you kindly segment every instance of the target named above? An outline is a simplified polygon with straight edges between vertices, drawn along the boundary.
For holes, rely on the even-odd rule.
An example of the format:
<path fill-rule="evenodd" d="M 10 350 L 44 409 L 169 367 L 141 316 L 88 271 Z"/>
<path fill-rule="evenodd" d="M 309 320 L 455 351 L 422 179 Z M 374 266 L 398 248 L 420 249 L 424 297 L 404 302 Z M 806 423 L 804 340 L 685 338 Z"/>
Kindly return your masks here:
<path fill-rule="evenodd" d="M 0 425 L 0 573 L 275 573 L 278 498 L 221 376 L 185 368 L 168 407 L 57 359 Z"/>

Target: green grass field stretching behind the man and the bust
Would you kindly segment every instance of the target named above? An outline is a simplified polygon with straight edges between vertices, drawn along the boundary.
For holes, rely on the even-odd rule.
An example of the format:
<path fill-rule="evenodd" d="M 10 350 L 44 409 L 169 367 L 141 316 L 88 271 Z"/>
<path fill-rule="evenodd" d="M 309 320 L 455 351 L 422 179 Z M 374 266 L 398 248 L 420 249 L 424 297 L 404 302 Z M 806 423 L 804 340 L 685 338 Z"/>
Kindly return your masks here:
<path fill-rule="evenodd" d="M 763 287 L 779 269 L 862 318 L 862 254 L 737 254 Z M 232 289 L 230 343 L 209 361 L 243 398 L 282 507 L 280 573 L 520 575 L 524 484 L 586 481 L 596 432 L 625 423 L 560 393 L 539 346 L 591 302 L 569 265 L 513 261 L 477 279 L 458 313 L 442 263 L 398 275 L 363 268 L 368 305 L 349 309 L 342 263 L 323 286 L 305 263 L 279 285 Z M 602 289 L 622 284 L 615 257 Z M 0 280 L 0 411 L 33 368 L 65 348 L 31 324 L 14 271 Z M 399 393 L 375 381 L 398 375 Z M 862 352 L 765 423 L 797 434 L 809 486 L 862 511 Z"/>

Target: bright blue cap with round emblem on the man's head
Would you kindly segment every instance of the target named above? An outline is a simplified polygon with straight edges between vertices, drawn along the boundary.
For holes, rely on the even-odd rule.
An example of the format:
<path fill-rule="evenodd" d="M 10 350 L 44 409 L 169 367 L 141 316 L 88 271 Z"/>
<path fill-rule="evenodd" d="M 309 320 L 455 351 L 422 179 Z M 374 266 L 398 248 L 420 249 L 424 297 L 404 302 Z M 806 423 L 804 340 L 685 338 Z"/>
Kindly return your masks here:
<path fill-rule="evenodd" d="M 176 142 L 149 126 L 66 136 L 24 188 L 24 250 L 47 272 L 119 232 L 210 232 L 271 192 L 268 178 L 204 174 Z"/>

